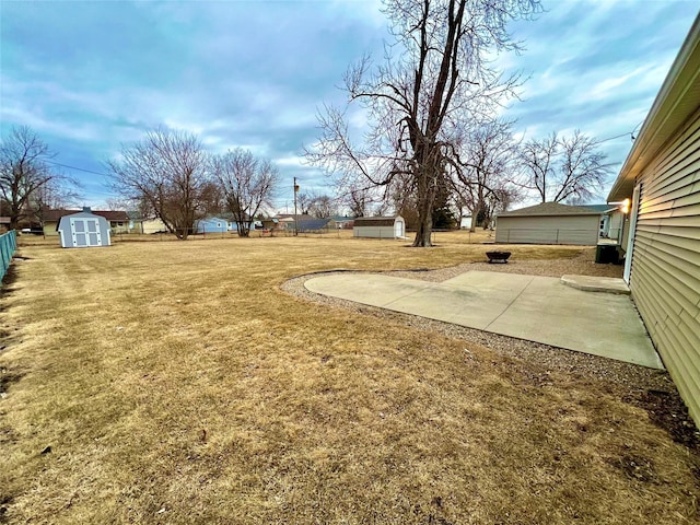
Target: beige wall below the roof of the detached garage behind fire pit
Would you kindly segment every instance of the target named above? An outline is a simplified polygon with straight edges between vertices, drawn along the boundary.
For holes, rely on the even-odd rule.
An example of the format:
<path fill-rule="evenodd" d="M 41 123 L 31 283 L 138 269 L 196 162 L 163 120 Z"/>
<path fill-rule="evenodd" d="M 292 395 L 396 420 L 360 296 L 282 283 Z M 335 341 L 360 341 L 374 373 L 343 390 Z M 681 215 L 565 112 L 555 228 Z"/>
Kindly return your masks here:
<path fill-rule="evenodd" d="M 594 246 L 599 232 L 600 215 L 503 215 L 497 219 L 495 242 Z"/>

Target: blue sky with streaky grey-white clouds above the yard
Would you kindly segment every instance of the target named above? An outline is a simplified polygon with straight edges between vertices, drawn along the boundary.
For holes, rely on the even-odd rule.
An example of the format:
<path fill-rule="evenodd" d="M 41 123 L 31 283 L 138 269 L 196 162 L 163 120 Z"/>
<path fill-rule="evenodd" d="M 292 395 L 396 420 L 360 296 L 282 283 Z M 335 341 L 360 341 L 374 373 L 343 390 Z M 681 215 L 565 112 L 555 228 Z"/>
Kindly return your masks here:
<path fill-rule="evenodd" d="M 503 116 L 518 137 L 574 129 L 600 140 L 609 185 L 682 40 L 697 0 L 544 0 L 535 21 L 509 27 L 524 44 L 498 57 L 529 79 Z M 272 160 L 284 187 L 329 192 L 303 148 L 316 114 L 364 54 L 381 59 L 378 0 L 0 0 L 0 133 L 30 126 L 80 184 L 77 205 L 105 208 L 105 161 L 149 129 L 197 133 L 212 153 L 236 147 Z M 610 139 L 610 140 L 607 140 Z M 60 164 L 60 165 L 58 165 Z M 606 192 L 603 197 L 607 195 Z M 603 199 L 602 199 L 603 200 Z"/>

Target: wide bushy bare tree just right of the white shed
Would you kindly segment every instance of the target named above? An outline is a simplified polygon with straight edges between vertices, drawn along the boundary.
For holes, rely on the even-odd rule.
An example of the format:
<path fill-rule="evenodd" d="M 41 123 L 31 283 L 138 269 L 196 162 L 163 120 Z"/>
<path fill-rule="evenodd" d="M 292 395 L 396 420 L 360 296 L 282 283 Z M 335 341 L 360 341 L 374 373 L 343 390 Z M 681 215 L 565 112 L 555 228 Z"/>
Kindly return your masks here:
<path fill-rule="evenodd" d="M 186 240 L 206 210 L 208 158 L 195 135 L 159 128 L 121 158 L 108 161 L 113 187 L 127 199 L 147 205 L 178 238 Z"/>

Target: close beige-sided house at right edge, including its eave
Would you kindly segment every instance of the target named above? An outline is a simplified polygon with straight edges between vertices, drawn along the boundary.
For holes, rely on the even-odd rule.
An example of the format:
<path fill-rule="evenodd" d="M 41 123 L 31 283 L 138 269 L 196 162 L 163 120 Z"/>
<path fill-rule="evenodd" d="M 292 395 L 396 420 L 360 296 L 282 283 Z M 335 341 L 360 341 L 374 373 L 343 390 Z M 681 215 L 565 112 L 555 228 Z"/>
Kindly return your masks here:
<path fill-rule="evenodd" d="M 700 424 L 700 15 L 608 196 L 625 199 L 625 280 Z"/>

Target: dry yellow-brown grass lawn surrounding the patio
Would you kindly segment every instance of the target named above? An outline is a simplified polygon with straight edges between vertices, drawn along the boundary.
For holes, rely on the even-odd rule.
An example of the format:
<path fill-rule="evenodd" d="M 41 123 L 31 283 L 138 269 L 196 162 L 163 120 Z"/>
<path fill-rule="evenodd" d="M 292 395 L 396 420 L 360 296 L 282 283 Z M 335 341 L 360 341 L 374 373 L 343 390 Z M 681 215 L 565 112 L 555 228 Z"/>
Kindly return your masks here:
<path fill-rule="evenodd" d="M 699 523 L 698 451 L 616 385 L 280 290 L 483 259 L 466 240 L 25 244 L 0 299 L 0 522 Z"/>

